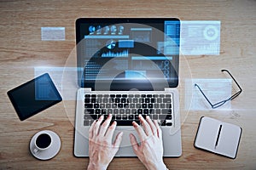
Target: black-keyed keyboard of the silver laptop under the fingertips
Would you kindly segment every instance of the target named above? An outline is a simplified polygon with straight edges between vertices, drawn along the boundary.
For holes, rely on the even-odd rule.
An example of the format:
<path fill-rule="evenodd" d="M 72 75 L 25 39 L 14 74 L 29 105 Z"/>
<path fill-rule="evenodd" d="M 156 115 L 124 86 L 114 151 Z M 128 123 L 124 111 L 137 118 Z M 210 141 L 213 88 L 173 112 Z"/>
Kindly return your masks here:
<path fill-rule="evenodd" d="M 172 126 L 172 101 L 172 94 L 85 94 L 84 126 L 102 115 L 107 119 L 109 114 L 118 126 L 132 126 L 133 121 L 139 124 L 139 115 Z"/>

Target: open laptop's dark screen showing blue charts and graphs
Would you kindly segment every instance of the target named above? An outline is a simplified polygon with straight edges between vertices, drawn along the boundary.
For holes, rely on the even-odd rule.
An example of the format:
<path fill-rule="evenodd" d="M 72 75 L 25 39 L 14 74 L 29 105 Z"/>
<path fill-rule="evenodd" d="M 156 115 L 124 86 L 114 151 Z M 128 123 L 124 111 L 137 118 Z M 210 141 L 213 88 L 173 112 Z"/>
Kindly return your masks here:
<path fill-rule="evenodd" d="M 92 90 L 176 88 L 180 21 L 78 19 L 79 86 Z"/>

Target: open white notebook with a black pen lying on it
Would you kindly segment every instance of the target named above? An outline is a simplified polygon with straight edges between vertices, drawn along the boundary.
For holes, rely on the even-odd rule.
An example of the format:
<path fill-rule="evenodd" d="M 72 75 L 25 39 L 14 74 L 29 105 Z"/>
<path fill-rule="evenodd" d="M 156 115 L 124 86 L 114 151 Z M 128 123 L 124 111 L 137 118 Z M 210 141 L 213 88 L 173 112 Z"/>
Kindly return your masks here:
<path fill-rule="evenodd" d="M 241 127 L 202 116 L 195 137 L 195 148 L 235 159 Z"/>

